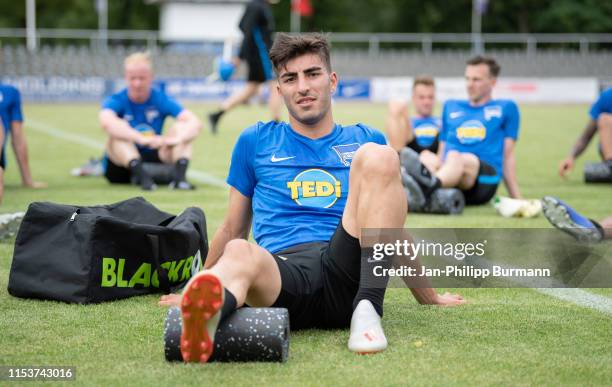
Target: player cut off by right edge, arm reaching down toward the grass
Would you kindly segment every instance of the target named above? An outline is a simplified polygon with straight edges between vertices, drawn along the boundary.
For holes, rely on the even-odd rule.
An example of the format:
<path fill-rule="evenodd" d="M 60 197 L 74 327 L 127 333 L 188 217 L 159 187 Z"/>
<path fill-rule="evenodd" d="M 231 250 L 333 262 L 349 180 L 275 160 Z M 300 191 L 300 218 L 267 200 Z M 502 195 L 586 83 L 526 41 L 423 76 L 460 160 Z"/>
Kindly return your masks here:
<path fill-rule="evenodd" d="M 590 120 L 584 131 L 576 140 L 570 155 L 559 164 L 559 175 L 565 174 L 574 168 L 574 161 L 584 152 L 595 133 L 599 133 L 599 154 L 604 163 L 610 168 L 612 181 L 612 88 L 607 89 L 595 101 L 589 111 Z"/>

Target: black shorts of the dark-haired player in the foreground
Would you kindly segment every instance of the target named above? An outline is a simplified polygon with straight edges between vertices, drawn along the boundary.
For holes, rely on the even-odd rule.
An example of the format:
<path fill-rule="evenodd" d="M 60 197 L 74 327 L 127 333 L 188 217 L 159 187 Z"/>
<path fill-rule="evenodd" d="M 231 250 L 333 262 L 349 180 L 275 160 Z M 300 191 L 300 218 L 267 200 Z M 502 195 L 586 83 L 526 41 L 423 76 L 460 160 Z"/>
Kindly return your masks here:
<path fill-rule="evenodd" d="M 350 325 L 359 289 L 361 246 L 342 221 L 329 242 L 305 243 L 272 256 L 282 287 L 273 306 L 289 310 L 292 329 Z"/>

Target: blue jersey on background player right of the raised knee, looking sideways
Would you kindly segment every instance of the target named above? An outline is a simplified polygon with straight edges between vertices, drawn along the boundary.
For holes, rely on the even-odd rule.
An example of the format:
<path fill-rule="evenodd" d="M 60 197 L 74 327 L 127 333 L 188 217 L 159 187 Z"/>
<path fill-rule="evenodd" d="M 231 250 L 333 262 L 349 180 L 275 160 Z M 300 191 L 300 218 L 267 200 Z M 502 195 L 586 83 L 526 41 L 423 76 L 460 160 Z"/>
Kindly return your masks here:
<path fill-rule="evenodd" d="M 440 141 L 446 142 L 444 157 L 451 150 L 473 153 L 497 172 L 495 178 L 487 177 L 487 183 L 498 183 L 503 177 L 504 140 L 516 141 L 519 123 L 514 101 L 493 99 L 471 106 L 466 100 L 449 100 L 444 104 L 440 133 Z"/>

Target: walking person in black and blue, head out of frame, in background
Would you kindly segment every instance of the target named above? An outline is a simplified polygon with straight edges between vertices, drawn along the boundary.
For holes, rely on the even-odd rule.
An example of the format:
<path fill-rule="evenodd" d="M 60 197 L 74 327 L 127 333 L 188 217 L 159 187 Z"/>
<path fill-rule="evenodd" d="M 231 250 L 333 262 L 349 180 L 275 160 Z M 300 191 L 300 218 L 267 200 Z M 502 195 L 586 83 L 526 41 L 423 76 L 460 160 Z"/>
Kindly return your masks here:
<path fill-rule="evenodd" d="M 247 102 L 256 95 L 259 87 L 268 83 L 269 99 L 268 106 L 272 119 L 280 120 L 281 99 L 276 91 L 273 79 L 272 63 L 268 54 L 272 47 L 272 32 L 274 31 L 274 18 L 269 4 L 275 4 L 278 0 L 252 0 L 240 20 L 240 31 L 244 37 L 240 46 L 239 58 L 234 59 L 238 65 L 244 61 L 248 66 L 247 83 L 244 88 L 231 95 L 221 103 L 219 110 L 208 115 L 210 130 L 217 133 L 221 116 L 234 107 Z"/>

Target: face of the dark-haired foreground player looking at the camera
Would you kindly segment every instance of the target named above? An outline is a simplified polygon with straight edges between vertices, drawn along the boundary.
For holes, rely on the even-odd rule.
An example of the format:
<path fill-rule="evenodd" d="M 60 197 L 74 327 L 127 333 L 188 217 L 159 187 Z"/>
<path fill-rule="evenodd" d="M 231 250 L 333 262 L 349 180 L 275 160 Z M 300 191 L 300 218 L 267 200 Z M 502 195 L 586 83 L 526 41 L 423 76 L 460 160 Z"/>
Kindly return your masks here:
<path fill-rule="evenodd" d="M 316 125 L 330 113 L 337 84 L 336 73 L 330 73 L 316 54 L 290 60 L 278 74 L 278 91 L 289 114 L 307 126 Z"/>

